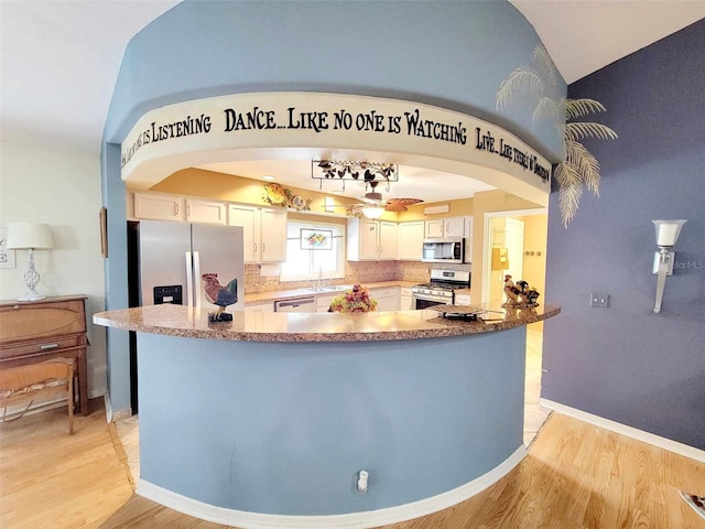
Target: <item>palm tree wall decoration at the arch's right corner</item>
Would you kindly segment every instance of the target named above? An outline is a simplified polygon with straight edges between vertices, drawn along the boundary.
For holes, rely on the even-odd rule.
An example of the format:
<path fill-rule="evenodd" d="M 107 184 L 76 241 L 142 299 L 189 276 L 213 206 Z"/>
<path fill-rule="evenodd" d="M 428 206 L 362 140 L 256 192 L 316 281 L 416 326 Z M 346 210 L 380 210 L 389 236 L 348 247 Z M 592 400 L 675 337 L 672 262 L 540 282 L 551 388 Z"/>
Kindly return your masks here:
<path fill-rule="evenodd" d="M 558 186 L 558 208 L 563 225 L 575 217 L 583 190 L 599 196 L 599 162 L 581 143 L 585 138 L 617 139 L 617 133 L 606 125 L 594 121 L 575 121 L 605 107 L 595 99 L 566 99 L 552 97 L 558 79 L 558 71 L 545 47 L 533 51 L 535 67 L 519 66 L 502 80 L 496 95 L 498 110 L 503 110 L 519 97 L 535 100 L 531 117 L 535 126 L 543 119 L 557 123 L 557 133 L 564 137 L 565 158 L 553 168 L 553 177 Z"/>

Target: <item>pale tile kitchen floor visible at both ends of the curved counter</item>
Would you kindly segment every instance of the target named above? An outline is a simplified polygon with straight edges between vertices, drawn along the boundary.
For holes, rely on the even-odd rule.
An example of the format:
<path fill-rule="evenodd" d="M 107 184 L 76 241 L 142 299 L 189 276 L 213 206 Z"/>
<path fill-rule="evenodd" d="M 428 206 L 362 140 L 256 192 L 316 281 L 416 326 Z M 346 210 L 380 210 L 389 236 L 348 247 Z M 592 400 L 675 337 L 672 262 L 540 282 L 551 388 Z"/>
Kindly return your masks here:
<path fill-rule="evenodd" d="M 550 410 L 539 406 L 541 396 L 541 352 L 543 333 L 541 330 L 527 331 L 527 379 L 524 389 L 524 444 L 529 446 L 549 418 Z M 116 423 L 118 435 L 128 458 L 132 478 L 140 478 L 140 428 L 138 415 Z"/>

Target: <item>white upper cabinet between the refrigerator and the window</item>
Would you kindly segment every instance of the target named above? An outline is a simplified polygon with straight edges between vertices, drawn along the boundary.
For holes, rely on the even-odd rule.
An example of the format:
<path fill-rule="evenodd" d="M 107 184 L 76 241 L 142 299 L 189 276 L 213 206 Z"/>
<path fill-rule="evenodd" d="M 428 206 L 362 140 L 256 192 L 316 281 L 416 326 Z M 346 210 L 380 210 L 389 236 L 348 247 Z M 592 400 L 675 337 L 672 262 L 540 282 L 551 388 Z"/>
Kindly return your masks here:
<path fill-rule="evenodd" d="M 245 262 L 286 260 L 286 210 L 241 204 L 228 207 L 228 224 L 242 226 Z"/>

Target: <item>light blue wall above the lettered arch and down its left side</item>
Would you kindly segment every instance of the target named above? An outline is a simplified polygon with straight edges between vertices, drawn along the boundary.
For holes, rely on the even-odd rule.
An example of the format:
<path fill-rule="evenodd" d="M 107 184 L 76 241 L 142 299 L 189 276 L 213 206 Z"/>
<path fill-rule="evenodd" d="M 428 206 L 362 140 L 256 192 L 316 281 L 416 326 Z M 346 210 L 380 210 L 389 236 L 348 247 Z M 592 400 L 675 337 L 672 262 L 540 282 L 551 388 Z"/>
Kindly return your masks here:
<path fill-rule="evenodd" d="M 164 105 L 248 91 L 359 94 L 467 112 L 516 133 L 550 160 L 561 156 L 555 123 L 532 129 L 533 101 L 502 112 L 495 95 L 540 40 L 506 1 L 185 1 L 128 45 L 106 119 L 104 192 L 109 206 L 108 305 L 127 306 L 124 186 L 112 144 Z M 558 79 L 555 97 L 565 96 Z M 127 274 L 124 274 L 127 277 Z M 129 377 L 110 333 L 109 391 L 127 409 Z M 116 348 L 119 345 L 119 348 Z"/>

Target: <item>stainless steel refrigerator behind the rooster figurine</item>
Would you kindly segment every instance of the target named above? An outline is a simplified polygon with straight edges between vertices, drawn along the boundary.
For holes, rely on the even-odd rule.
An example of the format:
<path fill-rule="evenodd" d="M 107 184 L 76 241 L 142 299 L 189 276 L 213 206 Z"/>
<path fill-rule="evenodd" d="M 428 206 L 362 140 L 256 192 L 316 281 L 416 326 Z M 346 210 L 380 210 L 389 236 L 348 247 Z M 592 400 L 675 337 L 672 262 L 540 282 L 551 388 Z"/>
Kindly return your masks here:
<path fill-rule="evenodd" d="M 208 301 L 208 293 L 214 298 L 213 285 L 206 293 L 203 277 L 217 274 L 223 289 L 231 289 L 232 294 L 237 292 L 237 302 L 227 310 L 242 310 L 241 227 L 142 220 L 138 233 L 140 305 L 175 303 L 214 312 L 218 306 Z"/>

